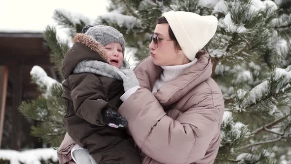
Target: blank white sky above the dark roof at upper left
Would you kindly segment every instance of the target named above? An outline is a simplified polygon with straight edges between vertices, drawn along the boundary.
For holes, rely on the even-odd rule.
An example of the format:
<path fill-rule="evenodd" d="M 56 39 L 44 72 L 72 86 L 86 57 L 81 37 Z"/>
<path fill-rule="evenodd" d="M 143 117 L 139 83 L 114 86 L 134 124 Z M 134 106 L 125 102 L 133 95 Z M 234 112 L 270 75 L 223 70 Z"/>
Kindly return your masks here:
<path fill-rule="evenodd" d="M 54 25 L 55 9 L 82 14 L 90 20 L 107 13 L 107 0 L 1 0 L 0 32 L 42 32 Z"/>

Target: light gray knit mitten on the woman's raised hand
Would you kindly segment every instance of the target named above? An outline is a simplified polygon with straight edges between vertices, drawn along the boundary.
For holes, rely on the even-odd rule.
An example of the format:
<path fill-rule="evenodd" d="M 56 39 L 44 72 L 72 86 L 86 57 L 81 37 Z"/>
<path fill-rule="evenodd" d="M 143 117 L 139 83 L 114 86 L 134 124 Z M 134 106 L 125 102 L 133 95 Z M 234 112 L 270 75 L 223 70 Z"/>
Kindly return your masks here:
<path fill-rule="evenodd" d="M 117 74 L 123 80 L 123 87 L 125 92 L 135 86 L 140 85 L 136 75 L 131 69 L 121 69 L 120 71 L 117 71 Z"/>

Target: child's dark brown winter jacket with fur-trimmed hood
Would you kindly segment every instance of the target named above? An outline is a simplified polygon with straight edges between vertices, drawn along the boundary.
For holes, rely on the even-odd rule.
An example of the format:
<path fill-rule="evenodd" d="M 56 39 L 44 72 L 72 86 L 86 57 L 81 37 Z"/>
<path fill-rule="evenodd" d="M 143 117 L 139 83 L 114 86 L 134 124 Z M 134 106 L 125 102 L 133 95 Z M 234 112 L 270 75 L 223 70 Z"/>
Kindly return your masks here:
<path fill-rule="evenodd" d="M 132 155 L 139 161 L 137 150 L 134 144 L 129 142 L 125 128 L 105 125 L 101 114 L 101 110 L 107 106 L 118 110 L 122 103 L 119 98 L 124 93 L 123 82 L 93 73 L 73 74 L 76 65 L 83 60 L 109 63 L 103 46 L 97 41 L 87 35 L 77 34 L 74 42 L 73 47 L 64 56 L 62 65 L 65 78 L 62 97 L 67 105 L 64 124 L 73 140 L 66 134 L 64 140 L 67 139 L 67 141 L 63 141 L 58 150 L 60 163 L 70 163 L 69 160 L 72 160 L 70 154 L 74 145 L 72 141 L 81 147 L 88 148 L 89 153 L 97 162 L 109 160 L 107 159 L 109 156 L 111 160 L 114 159 L 111 156 L 114 153 L 118 156 Z M 120 145 L 121 148 L 116 145 Z M 63 146 L 69 148 L 64 150 Z M 115 149 L 123 152 L 119 153 Z M 114 152 L 109 152 L 111 150 Z"/>

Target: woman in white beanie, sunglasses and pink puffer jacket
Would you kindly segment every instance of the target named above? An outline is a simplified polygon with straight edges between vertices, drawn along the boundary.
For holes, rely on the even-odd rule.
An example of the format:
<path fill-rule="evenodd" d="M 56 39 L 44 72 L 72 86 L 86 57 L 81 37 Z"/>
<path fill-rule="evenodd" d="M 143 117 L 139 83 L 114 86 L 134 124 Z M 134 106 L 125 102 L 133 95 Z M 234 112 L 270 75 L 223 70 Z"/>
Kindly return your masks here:
<path fill-rule="evenodd" d="M 118 112 L 140 148 L 143 164 L 213 164 L 224 102 L 202 49 L 217 18 L 169 11 L 158 18 L 151 56 L 133 72 L 119 72 L 125 93 Z"/>

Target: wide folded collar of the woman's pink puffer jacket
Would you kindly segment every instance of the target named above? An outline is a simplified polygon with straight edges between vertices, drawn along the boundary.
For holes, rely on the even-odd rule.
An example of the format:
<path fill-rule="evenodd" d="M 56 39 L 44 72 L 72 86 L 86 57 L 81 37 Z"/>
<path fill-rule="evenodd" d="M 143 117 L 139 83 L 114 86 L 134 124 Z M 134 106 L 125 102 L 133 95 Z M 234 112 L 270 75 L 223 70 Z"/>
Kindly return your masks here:
<path fill-rule="evenodd" d="M 176 79 L 166 82 L 154 93 L 162 106 L 177 102 L 198 84 L 210 78 L 212 64 L 209 54 L 200 50 L 196 57 L 198 61 L 195 65 L 184 70 Z M 161 67 L 153 64 L 151 56 L 144 59 L 135 69 L 140 86 L 150 91 L 161 72 Z"/>

